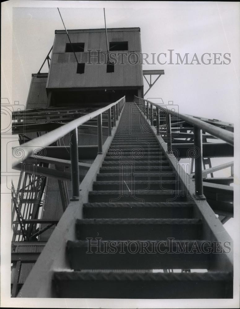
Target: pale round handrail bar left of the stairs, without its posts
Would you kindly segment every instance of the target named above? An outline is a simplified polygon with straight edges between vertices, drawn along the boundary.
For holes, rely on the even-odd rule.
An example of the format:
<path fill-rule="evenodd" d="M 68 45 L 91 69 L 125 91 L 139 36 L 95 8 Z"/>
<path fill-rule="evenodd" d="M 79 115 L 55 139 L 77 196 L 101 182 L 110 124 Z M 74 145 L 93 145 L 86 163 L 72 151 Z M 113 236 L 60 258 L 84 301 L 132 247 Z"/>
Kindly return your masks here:
<path fill-rule="evenodd" d="M 68 122 L 65 125 L 62 125 L 61 127 L 54 129 L 51 132 L 48 132 L 44 135 L 34 138 L 33 140 L 26 142 L 20 146 L 14 147 L 15 150 L 17 148 L 19 148 L 20 150 L 23 150 L 23 147 L 24 147 L 24 155 L 21 158 L 13 159 L 12 167 L 15 167 L 16 165 L 21 163 L 23 160 L 32 156 L 36 148 L 39 149 L 39 147 L 45 148 L 49 146 L 50 144 L 54 143 L 59 138 L 62 138 L 66 134 L 70 133 L 72 130 L 76 129 L 77 127 L 84 124 L 85 122 L 95 118 L 96 116 L 99 116 L 103 112 L 106 112 L 111 107 L 116 106 L 117 104 L 120 104 L 121 101 L 124 102 L 124 100 L 125 100 L 125 96 L 119 99 L 118 101 L 107 105 L 106 107 L 99 108 L 98 110 L 91 112 L 88 115 L 81 116 L 77 119 L 72 120 L 71 122 Z"/>

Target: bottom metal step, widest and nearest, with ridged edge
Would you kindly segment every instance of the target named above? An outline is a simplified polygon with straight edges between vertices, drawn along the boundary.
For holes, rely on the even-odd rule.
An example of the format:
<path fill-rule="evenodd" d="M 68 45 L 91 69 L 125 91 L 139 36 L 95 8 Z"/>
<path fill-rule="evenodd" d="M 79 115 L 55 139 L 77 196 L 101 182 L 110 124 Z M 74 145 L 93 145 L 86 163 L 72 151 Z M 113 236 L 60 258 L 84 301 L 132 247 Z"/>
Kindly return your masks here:
<path fill-rule="evenodd" d="M 232 274 L 55 272 L 61 298 L 232 298 Z"/>

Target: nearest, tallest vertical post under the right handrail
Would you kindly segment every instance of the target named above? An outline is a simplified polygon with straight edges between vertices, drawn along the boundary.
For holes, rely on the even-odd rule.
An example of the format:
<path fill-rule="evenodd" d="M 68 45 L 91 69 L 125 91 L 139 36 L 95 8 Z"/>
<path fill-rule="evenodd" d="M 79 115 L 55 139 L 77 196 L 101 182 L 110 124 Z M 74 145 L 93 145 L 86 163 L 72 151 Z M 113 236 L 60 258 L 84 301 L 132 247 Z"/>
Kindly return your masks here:
<path fill-rule="evenodd" d="M 199 150 L 199 156 L 195 158 L 195 195 L 198 198 L 204 198 L 203 195 L 203 173 L 202 173 L 202 159 L 203 148 L 201 139 L 201 129 L 194 127 L 194 146 Z"/>

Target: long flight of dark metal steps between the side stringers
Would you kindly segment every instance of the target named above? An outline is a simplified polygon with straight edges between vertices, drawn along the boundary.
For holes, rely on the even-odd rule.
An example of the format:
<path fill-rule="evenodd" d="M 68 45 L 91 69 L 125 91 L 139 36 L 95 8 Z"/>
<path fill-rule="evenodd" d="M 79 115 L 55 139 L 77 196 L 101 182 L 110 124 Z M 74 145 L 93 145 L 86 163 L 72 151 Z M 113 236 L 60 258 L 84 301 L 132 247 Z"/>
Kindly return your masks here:
<path fill-rule="evenodd" d="M 207 249 L 212 239 L 204 235 L 203 220 L 194 214 L 194 203 L 177 194 L 179 181 L 145 117 L 133 104 L 125 104 L 89 192 L 89 203 L 83 205 L 84 218 L 76 220 L 76 240 L 67 242 L 73 271 L 54 272 L 57 296 L 231 297 L 230 269 L 211 269 L 214 254 L 196 249 Z M 178 245 L 183 248 L 186 244 L 189 250 L 195 246 L 195 251 L 177 251 Z M 150 253 L 150 248 L 155 253 Z M 171 249 L 172 253 L 163 253 Z M 149 269 L 208 271 L 152 273 Z"/>

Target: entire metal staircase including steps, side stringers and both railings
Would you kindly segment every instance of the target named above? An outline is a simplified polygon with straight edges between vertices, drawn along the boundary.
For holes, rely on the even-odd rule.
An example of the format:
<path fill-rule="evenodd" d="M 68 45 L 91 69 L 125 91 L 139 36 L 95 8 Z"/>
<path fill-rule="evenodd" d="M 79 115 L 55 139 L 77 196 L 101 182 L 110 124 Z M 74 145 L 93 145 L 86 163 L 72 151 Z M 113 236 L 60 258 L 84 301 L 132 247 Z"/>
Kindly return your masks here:
<path fill-rule="evenodd" d="M 230 144 L 231 152 L 233 133 L 188 115 L 171 119 L 149 104 L 122 98 L 21 145 L 24 162 L 40 141 L 46 148 L 72 134 L 72 198 L 18 297 L 233 297 L 232 239 L 204 196 L 199 138 L 202 128 L 207 138 Z M 103 144 L 105 112 L 109 136 Z M 98 155 L 79 185 L 76 128 L 95 117 Z M 181 169 L 174 150 L 174 139 L 179 143 L 187 134 L 199 149 L 199 156 L 190 152 L 194 175 Z M 231 213 L 227 202 L 225 216 Z"/>

